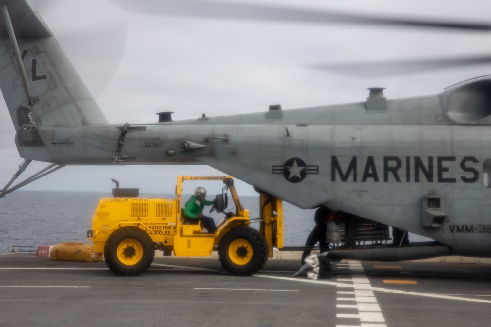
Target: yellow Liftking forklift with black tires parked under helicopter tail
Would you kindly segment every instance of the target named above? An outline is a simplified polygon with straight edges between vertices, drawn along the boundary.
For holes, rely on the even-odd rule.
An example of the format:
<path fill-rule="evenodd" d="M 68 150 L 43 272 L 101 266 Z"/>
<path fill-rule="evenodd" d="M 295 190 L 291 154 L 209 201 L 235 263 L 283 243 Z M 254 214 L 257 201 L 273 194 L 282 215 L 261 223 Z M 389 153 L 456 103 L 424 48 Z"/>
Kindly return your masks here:
<path fill-rule="evenodd" d="M 214 234 L 197 224 L 186 223 L 183 212 L 184 181 L 225 184 L 215 197 L 210 212 L 223 213 L 223 220 Z M 155 250 L 164 256 L 210 256 L 218 250 L 222 266 L 231 274 L 249 276 L 258 272 L 273 256 L 273 246 L 283 247 L 282 201 L 266 193 L 260 194 L 260 229 L 250 226 L 249 210 L 242 207 L 231 176 L 178 176 L 176 198 L 138 198 L 139 189 L 113 189 L 112 198 L 99 201 L 89 241 L 104 259 L 109 269 L 121 276 L 135 276 L 150 267 Z M 234 211 L 226 211 L 228 197 Z"/>

